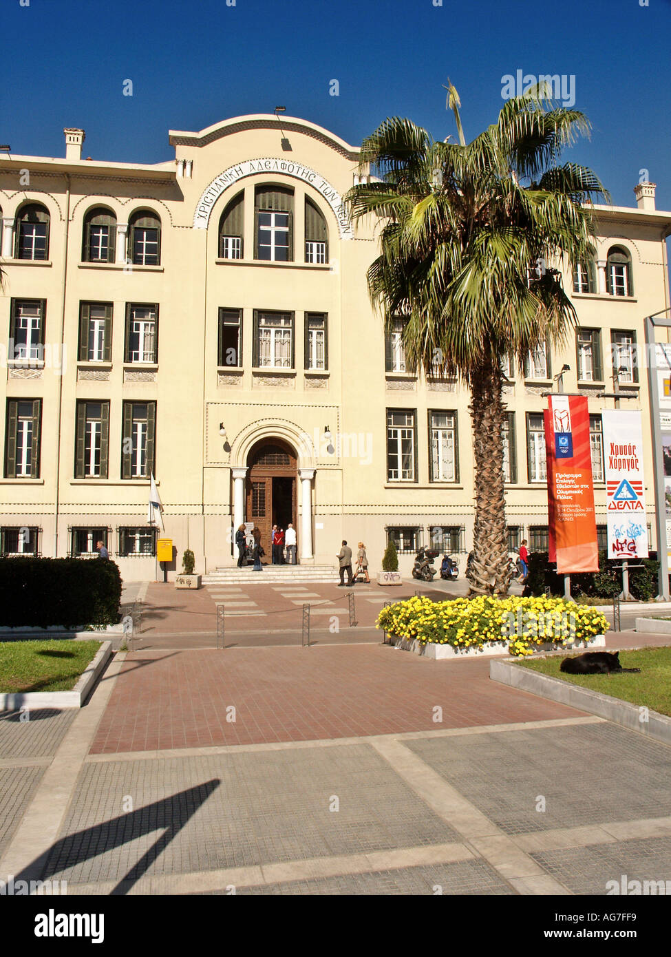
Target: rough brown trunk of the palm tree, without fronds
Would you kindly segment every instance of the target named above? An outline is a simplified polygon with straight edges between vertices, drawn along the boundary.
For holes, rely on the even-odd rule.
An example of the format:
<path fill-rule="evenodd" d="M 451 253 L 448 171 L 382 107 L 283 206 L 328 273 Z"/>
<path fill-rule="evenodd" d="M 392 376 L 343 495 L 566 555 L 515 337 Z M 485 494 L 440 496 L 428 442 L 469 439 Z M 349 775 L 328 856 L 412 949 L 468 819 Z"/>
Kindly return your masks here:
<path fill-rule="evenodd" d="M 476 519 L 469 594 L 507 593 L 514 570 L 508 562 L 503 486 L 503 389 L 501 368 L 483 358 L 470 377 L 475 458 Z"/>

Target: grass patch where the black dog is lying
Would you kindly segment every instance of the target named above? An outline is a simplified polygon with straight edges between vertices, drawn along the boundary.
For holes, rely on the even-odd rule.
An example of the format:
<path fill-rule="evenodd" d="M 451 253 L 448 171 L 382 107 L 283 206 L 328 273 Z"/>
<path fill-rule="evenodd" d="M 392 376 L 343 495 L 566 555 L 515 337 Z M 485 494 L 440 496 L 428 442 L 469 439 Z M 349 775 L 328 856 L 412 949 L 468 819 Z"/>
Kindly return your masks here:
<path fill-rule="evenodd" d="M 576 656 L 571 654 L 569 657 Z M 520 663 L 543 675 L 571 681 L 581 688 L 592 688 L 593 691 L 631 701 L 632 704 L 644 704 L 662 715 L 671 715 L 671 647 L 620 652 L 619 663 L 622 667 L 640 668 L 640 675 L 566 675 L 559 670 L 563 659 L 563 656 L 557 656 Z"/>

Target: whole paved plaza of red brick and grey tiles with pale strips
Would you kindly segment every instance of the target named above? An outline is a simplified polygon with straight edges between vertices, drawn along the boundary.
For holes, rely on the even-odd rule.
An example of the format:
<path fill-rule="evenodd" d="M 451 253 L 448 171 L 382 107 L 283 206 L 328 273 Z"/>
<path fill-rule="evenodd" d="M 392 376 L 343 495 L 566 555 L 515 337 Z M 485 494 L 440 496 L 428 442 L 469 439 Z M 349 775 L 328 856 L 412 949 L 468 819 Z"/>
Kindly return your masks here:
<path fill-rule="evenodd" d="M 145 612 L 85 707 L 0 715 L 3 879 L 69 895 L 524 896 L 671 880 L 668 746 L 369 626 L 310 648 L 264 643 L 258 623 L 256 644 L 180 644 L 212 596 L 153 595 L 168 647 L 145 647 Z"/>

